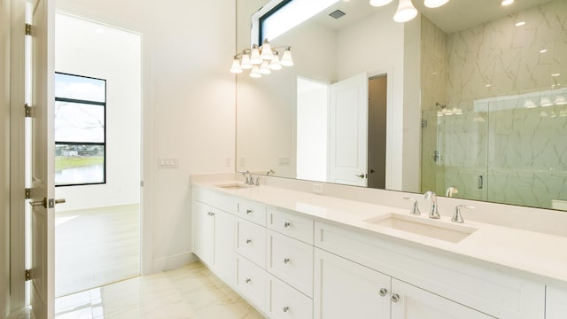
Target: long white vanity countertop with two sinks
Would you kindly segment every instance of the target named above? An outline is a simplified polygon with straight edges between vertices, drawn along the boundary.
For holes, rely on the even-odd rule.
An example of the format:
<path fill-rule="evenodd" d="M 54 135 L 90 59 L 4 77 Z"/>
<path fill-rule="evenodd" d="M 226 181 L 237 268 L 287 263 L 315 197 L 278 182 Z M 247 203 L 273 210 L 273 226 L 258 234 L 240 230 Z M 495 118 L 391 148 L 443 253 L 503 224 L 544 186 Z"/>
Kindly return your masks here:
<path fill-rule="evenodd" d="M 215 181 L 211 183 L 193 183 L 193 185 L 258 201 L 268 206 L 307 214 L 315 217 L 315 219 L 368 230 L 376 233 L 377 236 L 387 237 L 423 248 L 427 247 L 438 252 L 441 251 L 454 255 L 457 258 L 469 258 L 483 263 L 487 268 L 498 268 L 505 271 L 512 270 L 517 275 L 524 275 L 543 284 L 553 284 L 567 288 L 567 237 L 467 221 L 467 211 L 463 210 L 465 222 L 461 225 L 477 230 L 460 242 L 452 243 L 364 222 L 365 220 L 378 218 L 390 213 L 409 215 L 408 209 L 333 198 L 303 191 L 291 191 L 267 185 L 236 190 L 227 190 L 216 186 L 234 183 L 238 182 Z M 426 212 L 422 212 L 416 218 L 431 221 L 427 215 Z M 455 225 L 446 216 L 442 216 L 436 222 L 451 225 L 450 227 Z"/>

